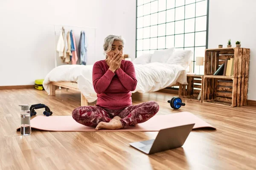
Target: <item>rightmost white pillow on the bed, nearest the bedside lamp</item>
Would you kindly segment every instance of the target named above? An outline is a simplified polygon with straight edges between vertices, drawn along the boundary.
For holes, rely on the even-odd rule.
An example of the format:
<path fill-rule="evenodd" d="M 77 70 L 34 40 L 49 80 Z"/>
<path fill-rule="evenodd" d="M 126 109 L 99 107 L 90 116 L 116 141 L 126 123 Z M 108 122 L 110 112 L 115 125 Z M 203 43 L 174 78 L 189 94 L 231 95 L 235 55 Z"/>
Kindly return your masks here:
<path fill-rule="evenodd" d="M 174 51 L 172 56 L 169 57 L 166 63 L 181 65 L 187 68 L 192 62 L 193 52 L 191 50 L 178 50 Z"/>

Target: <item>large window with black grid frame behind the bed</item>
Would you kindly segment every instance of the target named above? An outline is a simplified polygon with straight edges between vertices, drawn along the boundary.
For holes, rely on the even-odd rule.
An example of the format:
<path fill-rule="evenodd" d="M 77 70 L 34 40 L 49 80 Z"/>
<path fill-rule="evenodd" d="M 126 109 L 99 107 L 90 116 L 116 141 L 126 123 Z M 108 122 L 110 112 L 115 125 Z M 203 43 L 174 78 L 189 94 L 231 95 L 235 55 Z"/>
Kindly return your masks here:
<path fill-rule="evenodd" d="M 209 0 L 137 0 L 136 57 L 175 47 L 193 52 L 192 72 L 207 48 Z M 189 68 L 187 68 L 189 70 Z"/>

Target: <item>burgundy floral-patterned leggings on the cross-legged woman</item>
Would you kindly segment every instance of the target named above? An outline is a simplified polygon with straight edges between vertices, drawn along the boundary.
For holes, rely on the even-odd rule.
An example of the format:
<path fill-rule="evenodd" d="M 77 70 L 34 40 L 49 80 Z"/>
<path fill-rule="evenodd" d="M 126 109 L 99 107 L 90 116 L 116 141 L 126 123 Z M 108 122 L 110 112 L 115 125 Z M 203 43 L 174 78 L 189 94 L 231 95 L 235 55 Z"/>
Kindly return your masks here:
<path fill-rule="evenodd" d="M 130 105 L 121 110 L 111 110 L 99 106 L 80 106 L 73 110 L 72 117 L 76 122 L 95 127 L 99 122 L 109 122 L 114 116 L 121 117 L 122 127 L 134 126 L 153 117 L 159 111 L 157 102 L 150 101 Z"/>

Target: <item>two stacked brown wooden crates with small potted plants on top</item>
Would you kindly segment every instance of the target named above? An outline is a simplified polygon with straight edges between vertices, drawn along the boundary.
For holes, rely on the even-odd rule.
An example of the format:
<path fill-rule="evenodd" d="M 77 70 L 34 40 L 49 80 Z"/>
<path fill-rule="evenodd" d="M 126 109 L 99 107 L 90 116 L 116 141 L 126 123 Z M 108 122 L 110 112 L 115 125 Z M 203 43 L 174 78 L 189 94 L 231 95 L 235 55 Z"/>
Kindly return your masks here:
<path fill-rule="evenodd" d="M 233 76 L 213 75 L 233 58 Z M 237 107 L 247 105 L 249 48 L 213 48 L 205 50 L 203 102 Z"/>

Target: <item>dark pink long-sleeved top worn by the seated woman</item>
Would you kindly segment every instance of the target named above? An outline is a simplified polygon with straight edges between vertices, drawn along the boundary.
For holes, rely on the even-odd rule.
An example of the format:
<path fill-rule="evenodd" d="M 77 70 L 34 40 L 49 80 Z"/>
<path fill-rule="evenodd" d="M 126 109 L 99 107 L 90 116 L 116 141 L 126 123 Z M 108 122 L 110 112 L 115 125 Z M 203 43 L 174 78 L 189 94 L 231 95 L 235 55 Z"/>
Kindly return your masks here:
<path fill-rule="evenodd" d="M 97 93 L 96 106 L 119 110 L 132 105 L 131 91 L 136 89 L 137 79 L 131 61 L 122 60 L 113 73 L 105 60 L 93 65 L 93 88 Z"/>

